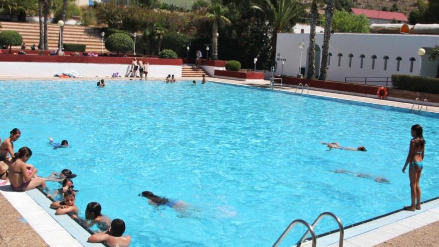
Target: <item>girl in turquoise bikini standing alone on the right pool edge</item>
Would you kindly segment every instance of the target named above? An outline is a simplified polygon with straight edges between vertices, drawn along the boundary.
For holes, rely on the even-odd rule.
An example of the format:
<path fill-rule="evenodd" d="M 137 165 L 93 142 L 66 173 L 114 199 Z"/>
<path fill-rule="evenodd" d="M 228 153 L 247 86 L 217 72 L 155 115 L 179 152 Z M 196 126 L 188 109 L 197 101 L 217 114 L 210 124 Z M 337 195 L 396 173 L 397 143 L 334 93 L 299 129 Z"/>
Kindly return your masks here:
<path fill-rule="evenodd" d="M 426 144 L 422 132 L 423 130 L 421 125 L 415 124 L 412 126 L 413 139 L 410 141 L 409 154 L 407 155 L 406 163 L 403 167 L 403 173 L 406 173 L 407 165 L 410 164 L 409 178 L 412 205 L 404 207 L 404 209 L 410 211 L 421 209 L 421 188 L 419 187 L 419 180 L 421 179 L 421 173 L 424 167 L 423 160 Z"/>

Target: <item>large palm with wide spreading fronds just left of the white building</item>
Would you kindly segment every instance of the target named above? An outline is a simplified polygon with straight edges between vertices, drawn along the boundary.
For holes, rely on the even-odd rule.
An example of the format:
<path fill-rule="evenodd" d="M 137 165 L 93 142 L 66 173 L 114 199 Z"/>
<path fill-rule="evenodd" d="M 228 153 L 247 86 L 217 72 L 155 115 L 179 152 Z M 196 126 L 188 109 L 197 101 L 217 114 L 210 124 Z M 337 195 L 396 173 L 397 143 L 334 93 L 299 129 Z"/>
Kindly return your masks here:
<path fill-rule="evenodd" d="M 317 5 L 316 5 L 317 6 Z M 259 0 L 251 6 L 265 14 L 271 25 L 271 60 L 276 57 L 277 33 L 286 31 L 285 28 L 303 10 L 303 5 L 298 0 Z"/>

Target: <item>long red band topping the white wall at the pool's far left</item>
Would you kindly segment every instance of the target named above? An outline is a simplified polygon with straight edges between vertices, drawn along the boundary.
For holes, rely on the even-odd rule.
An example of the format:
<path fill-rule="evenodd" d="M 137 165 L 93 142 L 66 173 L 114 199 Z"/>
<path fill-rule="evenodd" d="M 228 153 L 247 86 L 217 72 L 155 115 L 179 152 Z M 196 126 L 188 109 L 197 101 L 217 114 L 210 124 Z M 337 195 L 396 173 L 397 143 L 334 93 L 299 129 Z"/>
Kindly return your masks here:
<path fill-rule="evenodd" d="M 112 63 L 130 64 L 130 57 L 108 57 L 108 56 L 35 56 L 35 55 L 13 55 L 1 54 L 1 62 L 71 62 L 71 63 Z M 182 59 L 164 58 L 138 58 L 137 60 L 147 61 L 155 65 L 183 65 Z"/>

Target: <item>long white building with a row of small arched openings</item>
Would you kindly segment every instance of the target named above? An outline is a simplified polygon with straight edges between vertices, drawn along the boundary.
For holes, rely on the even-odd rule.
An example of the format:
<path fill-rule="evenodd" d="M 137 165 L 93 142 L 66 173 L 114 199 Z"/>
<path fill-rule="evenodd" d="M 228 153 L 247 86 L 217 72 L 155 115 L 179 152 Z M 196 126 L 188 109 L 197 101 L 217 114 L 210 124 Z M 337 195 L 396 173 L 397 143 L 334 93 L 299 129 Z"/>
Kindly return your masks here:
<path fill-rule="evenodd" d="M 304 48 L 299 48 L 303 42 Z M 328 80 L 386 86 L 392 74 L 436 76 L 438 61 L 429 60 L 429 51 L 439 44 L 438 35 L 334 33 L 329 46 Z M 320 73 L 323 34 L 316 34 L 316 74 Z M 300 64 L 307 74 L 309 34 L 279 33 L 276 74 L 296 76 Z M 427 54 L 418 55 L 424 48 Z M 300 61 L 302 52 L 302 61 Z M 422 63 L 420 64 L 420 61 Z M 303 69 L 302 69 L 303 70 Z M 356 78 L 353 78 L 356 77 Z M 372 78 L 381 77 L 381 78 Z M 371 81 L 376 82 L 371 82 Z M 391 83 L 388 83 L 391 86 Z"/>

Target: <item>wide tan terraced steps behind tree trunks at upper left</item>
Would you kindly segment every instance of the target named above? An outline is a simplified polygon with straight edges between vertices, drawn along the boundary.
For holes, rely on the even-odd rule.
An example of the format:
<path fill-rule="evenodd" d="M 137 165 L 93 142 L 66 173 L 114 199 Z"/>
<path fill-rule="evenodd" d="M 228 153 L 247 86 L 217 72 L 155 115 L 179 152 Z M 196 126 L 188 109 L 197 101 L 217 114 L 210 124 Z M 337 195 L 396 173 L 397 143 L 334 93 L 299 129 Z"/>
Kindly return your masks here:
<path fill-rule="evenodd" d="M 32 44 L 38 46 L 39 43 L 39 24 L 31 22 L 0 22 L 2 30 L 15 30 L 23 37 L 26 49 L 30 49 Z M 59 26 L 57 24 L 47 25 L 47 37 L 49 50 L 58 47 Z M 102 36 L 97 27 L 87 27 L 79 25 L 64 25 L 63 43 L 85 44 L 87 52 L 101 52 Z M 20 46 L 12 46 L 12 49 L 20 49 Z M 104 52 L 108 50 L 103 48 Z"/>

